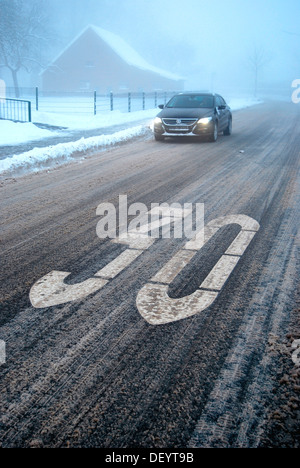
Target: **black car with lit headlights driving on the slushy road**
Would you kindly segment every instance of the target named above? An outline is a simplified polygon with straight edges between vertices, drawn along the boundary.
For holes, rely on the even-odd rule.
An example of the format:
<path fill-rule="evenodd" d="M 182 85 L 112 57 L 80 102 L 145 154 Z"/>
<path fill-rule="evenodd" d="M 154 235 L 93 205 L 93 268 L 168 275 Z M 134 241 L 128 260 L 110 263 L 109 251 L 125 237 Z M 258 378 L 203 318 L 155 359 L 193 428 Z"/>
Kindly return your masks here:
<path fill-rule="evenodd" d="M 179 93 L 166 105 L 153 122 L 154 138 L 201 136 L 217 141 L 218 135 L 231 135 L 232 113 L 222 96 L 215 93 Z"/>

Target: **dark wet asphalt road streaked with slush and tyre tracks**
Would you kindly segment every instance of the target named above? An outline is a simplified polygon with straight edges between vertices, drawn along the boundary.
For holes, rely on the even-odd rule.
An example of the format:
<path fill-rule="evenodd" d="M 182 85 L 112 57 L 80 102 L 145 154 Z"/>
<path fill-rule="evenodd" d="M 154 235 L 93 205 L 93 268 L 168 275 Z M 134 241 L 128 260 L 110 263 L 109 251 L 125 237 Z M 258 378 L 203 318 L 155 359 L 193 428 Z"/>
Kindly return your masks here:
<path fill-rule="evenodd" d="M 2 447 L 299 446 L 300 106 L 233 117 L 1 182 Z M 204 246 L 100 239 L 120 195 L 204 204 Z"/>

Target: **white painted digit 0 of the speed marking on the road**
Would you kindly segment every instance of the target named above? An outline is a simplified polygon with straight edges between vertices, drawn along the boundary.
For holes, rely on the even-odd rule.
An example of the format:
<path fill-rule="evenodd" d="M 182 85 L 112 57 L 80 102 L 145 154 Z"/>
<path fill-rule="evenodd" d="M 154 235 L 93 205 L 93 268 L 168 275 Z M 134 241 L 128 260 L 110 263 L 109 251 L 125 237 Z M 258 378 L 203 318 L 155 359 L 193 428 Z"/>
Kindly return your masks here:
<path fill-rule="evenodd" d="M 239 224 L 240 234 L 231 243 L 200 288 L 180 299 L 170 298 L 169 285 L 189 261 L 201 250 L 217 231 L 228 224 Z M 259 224 L 245 215 L 226 216 L 211 221 L 204 227 L 204 243 L 197 239 L 189 241 L 184 249 L 168 262 L 138 293 L 137 307 L 144 319 L 152 325 L 182 320 L 202 312 L 218 297 L 220 290 L 250 244 Z"/>

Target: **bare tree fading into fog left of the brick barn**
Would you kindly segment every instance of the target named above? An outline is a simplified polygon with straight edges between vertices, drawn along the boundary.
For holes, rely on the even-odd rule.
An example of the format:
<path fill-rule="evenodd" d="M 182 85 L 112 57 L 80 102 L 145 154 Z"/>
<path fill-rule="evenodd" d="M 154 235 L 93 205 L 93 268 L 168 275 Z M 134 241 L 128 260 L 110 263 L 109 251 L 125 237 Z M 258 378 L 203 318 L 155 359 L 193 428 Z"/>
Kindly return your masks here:
<path fill-rule="evenodd" d="M 18 73 L 42 66 L 46 37 L 44 0 L 0 0 L 0 67 L 10 70 L 16 97 Z"/>

